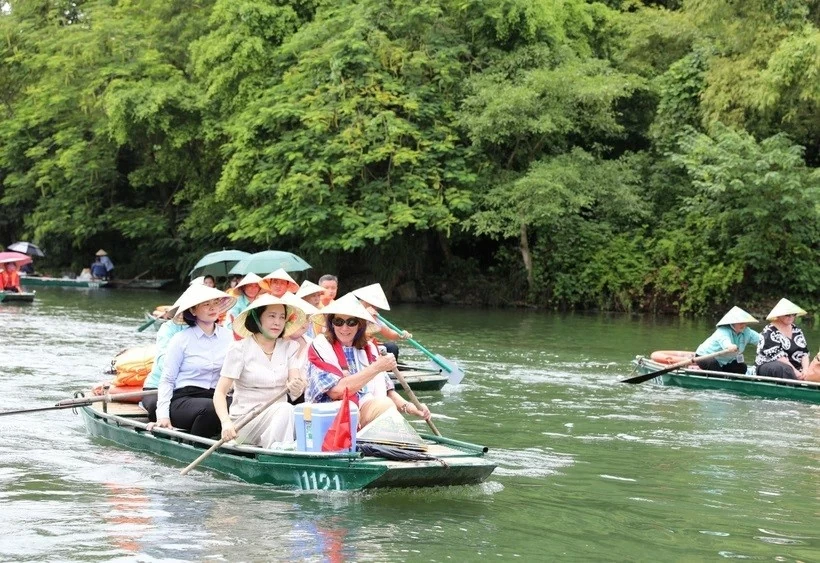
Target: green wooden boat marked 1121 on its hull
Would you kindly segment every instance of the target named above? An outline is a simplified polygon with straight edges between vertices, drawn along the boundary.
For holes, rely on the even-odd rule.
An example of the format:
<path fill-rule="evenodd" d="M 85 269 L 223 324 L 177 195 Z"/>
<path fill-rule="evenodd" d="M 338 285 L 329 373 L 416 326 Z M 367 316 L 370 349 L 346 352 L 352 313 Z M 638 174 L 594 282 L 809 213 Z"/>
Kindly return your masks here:
<path fill-rule="evenodd" d="M 94 403 L 78 409 L 92 436 L 187 465 L 215 443 L 179 430 L 146 430 L 138 405 Z M 300 490 L 358 490 L 383 487 L 433 487 L 481 483 L 495 469 L 487 448 L 422 434 L 435 461 L 389 461 L 361 453 L 267 450 L 224 446 L 200 467 L 249 483 Z"/>

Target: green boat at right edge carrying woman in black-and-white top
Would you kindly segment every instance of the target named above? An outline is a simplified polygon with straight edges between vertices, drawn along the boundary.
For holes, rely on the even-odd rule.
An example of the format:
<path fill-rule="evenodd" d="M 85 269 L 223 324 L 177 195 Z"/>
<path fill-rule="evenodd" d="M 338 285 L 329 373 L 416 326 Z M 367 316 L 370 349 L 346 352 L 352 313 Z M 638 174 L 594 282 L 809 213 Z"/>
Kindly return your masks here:
<path fill-rule="evenodd" d="M 648 374 L 668 367 L 644 356 L 637 356 L 634 364 L 639 374 Z M 820 383 L 814 381 L 687 368 L 658 376 L 652 381 L 660 385 L 673 385 L 687 389 L 716 389 L 765 399 L 820 403 Z"/>

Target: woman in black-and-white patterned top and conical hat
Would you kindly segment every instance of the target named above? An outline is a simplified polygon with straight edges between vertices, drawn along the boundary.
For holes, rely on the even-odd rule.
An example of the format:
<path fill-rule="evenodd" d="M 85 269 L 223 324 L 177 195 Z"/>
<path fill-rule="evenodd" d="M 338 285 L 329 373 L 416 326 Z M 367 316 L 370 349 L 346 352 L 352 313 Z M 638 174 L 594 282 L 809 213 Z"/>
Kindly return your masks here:
<path fill-rule="evenodd" d="M 809 347 L 794 319 L 805 314 L 806 311 L 785 298 L 771 310 L 766 317 L 771 323 L 763 329 L 757 344 L 758 375 L 803 379 L 809 369 Z"/>

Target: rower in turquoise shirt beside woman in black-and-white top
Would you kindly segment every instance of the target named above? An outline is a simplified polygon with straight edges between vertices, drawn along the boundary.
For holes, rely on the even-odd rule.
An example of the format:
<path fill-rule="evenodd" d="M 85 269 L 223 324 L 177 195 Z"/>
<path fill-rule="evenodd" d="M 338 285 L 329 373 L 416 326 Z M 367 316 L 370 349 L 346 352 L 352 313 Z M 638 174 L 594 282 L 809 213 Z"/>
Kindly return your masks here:
<path fill-rule="evenodd" d="M 746 373 L 748 369 L 743 359 L 743 350 L 748 344 L 760 342 L 760 333 L 750 329 L 749 323 L 759 322 L 756 318 L 741 309 L 732 307 L 717 323 L 717 330 L 695 350 L 695 361 L 701 369 L 724 371 L 727 373 Z M 717 358 L 698 361 L 698 356 L 706 356 L 726 350 L 727 353 Z"/>

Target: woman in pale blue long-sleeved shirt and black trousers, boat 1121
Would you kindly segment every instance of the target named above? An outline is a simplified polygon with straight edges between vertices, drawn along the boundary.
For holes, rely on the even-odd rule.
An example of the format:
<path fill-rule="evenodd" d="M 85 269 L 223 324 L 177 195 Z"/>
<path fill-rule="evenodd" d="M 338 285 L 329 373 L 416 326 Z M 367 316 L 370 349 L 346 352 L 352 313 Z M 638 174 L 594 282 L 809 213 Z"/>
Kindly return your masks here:
<path fill-rule="evenodd" d="M 172 322 L 185 323 L 188 328 L 171 338 L 165 352 L 156 426 L 184 428 L 204 437 L 220 433 L 213 396 L 233 336 L 217 320 L 235 302 L 224 291 L 198 284 L 177 301 Z"/>

